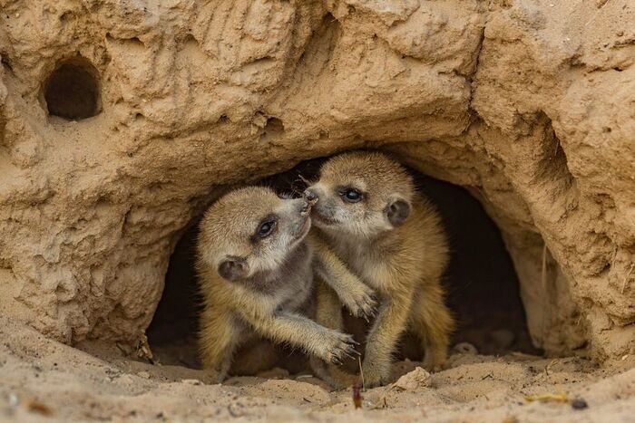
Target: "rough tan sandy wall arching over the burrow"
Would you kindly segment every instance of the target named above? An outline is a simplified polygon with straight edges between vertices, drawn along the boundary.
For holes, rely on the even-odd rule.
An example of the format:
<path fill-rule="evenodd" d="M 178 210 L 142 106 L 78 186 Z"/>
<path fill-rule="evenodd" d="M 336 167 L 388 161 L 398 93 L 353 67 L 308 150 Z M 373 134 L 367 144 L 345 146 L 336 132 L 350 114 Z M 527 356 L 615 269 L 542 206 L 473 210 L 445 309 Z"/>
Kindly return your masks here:
<path fill-rule="evenodd" d="M 482 201 L 536 346 L 635 353 L 630 0 L 0 0 L 0 56 L 0 309 L 47 336 L 133 341 L 224 187 L 371 146 Z"/>

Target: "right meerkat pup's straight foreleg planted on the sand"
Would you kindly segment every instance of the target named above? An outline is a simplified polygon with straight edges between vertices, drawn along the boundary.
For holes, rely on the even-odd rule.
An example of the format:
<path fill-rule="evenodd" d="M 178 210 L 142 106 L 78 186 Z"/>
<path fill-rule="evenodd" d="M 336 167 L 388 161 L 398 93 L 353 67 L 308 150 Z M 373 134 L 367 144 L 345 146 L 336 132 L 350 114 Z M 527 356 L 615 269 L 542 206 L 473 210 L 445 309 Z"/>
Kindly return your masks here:
<path fill-rule="evenodd" d="M 379 386 L 390 378 L 396 343 L 405 332 L 413 293 L 386 295 L 366 338 L 362 370 L 366 388 Z"/>

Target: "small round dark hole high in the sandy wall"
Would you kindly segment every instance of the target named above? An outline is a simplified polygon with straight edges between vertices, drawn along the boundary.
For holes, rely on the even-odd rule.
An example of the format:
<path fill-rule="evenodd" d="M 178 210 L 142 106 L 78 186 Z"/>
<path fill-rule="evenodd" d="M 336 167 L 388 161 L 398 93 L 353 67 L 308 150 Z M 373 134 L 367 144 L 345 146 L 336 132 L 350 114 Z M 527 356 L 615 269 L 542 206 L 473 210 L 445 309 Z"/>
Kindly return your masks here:
<path fill-rule="evenodd" d="M 102 110 L 98 72 L 82 57 L 60 64 L 44 82 L 48 114 L 66 120 L 82 120 Z"/>

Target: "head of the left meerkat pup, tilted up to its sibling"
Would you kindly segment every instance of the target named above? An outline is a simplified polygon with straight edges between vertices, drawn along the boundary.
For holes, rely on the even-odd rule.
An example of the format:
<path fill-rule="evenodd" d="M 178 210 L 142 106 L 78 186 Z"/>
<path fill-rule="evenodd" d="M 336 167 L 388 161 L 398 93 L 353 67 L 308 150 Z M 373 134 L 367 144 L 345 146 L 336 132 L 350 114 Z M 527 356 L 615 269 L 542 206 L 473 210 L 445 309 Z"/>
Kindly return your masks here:
<path fill-rule="evenodd" d="M 200 222 L 199 259 L 224 279 L 275 271 L 308 234 L 305 198 L 280 198 L 267 187 L 245 187 L 221 197 Z"/>

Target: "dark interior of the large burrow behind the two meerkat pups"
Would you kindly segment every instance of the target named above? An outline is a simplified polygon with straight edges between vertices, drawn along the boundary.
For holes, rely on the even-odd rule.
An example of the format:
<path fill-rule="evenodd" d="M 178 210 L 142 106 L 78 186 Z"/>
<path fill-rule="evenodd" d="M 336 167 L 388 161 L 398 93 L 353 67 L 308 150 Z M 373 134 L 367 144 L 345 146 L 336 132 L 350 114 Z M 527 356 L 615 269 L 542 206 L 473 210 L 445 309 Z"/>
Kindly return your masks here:
<path fill-rule="evenodd" d="M 322 159 L 303 162 L 288 172 L 266 178 L 264 185 L 278 192 L 302 192 L 303 178 L 317 175 Z M 419 189 L 441 212 L 452 248 L 445 274 L 447 303 L 457 322 L 452 345 L 469 342 L 482 354 L 519 351 L 540 353 L 527 330 L 518 277 L 498 227 L 481 204 L 463 187 L 413 172 Z M 198 234 L 195 219 L 181 236 L 171 256 L 161 302 L 147 334 L 161 362 L 200 368 L 196 354 L 200 298 L 194 267 Z M 347 316 L 347 313 L 345 313 Z M 352 332 L 364 331 L 362 322 L 347 318 Z M 421 360 L 418 342 L 405 335 L 397 358 Z M 280 350 L 278 366 L 298 371 L 305 365 L 298 354 Z"/>

